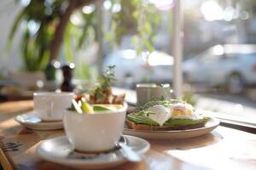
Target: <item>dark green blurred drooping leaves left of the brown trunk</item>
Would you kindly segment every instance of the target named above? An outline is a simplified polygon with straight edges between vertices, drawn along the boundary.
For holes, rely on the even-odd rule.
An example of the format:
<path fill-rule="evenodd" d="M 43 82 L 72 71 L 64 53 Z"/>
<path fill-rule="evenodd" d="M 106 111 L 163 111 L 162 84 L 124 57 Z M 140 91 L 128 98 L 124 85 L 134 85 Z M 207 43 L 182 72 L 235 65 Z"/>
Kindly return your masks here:
<path fill-rule="evenodd" d="M 18 1 L 17 1 L 18 2 Z M 11 47 L 15 32 L 21 26 L 21 56 L 26 71 L 42 71 L 49 63 L 49 44 L 55 34 L 65 0 L 34 1 L 17 15 L 9 32 L 8 48 Z"/>

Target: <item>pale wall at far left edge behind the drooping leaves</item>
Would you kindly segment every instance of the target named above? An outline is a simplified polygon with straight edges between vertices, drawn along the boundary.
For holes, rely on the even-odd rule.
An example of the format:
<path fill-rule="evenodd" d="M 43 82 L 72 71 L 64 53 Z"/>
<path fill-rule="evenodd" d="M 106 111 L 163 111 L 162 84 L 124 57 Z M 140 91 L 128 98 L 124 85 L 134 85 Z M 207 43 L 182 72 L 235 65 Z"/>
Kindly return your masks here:
<path fill-rule="evenodd" d="M 11 30 L 15 17 L 19 14 L 21 6 L 15 0 L 0 0 L 0 73 L 7 74 L 17 71 L 22 65 L 20 55 L 20 36 L 18 29 L 9 53 L 5 53 L 9 31 Z"/>

